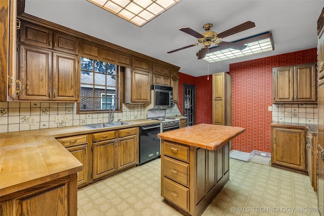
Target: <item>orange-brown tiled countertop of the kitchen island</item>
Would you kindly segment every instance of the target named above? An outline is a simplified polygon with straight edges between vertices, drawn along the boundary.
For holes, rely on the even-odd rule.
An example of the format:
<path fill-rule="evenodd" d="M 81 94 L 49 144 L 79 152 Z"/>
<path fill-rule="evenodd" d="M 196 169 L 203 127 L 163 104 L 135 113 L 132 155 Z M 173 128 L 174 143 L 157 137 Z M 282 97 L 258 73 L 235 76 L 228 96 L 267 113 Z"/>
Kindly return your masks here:
<path fill-rule="evenodd" d="M 160 133 L 157 136 L 164 140 L 214 151 L 243 132 L 245 128 L 242 127 L 196 124 Z"/>

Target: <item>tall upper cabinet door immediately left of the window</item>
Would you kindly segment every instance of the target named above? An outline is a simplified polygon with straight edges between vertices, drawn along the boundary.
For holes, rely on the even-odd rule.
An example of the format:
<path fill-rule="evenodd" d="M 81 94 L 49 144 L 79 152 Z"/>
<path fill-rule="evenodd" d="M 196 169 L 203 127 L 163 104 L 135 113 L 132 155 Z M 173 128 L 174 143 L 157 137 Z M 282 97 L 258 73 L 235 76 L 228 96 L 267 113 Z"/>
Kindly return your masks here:
<path fill-rule="evenodd" d="M 78 57 L 53 53 L 53 100 L 78 101 Z"/>

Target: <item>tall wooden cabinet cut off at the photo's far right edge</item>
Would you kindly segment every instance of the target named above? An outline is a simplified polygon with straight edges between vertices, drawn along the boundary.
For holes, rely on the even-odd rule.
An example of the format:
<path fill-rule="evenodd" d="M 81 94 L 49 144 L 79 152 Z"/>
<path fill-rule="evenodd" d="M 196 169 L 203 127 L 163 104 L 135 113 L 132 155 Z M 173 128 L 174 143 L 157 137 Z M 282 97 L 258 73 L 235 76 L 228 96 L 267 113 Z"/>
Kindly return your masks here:
<path fill-rule="evenodd" d="M 324 208 L 324 8 L 317 20 L 318 34 L 318 144 L 317 144 L 317 200 Z M 323 212 L 319 212 L 324 215 Z"/>

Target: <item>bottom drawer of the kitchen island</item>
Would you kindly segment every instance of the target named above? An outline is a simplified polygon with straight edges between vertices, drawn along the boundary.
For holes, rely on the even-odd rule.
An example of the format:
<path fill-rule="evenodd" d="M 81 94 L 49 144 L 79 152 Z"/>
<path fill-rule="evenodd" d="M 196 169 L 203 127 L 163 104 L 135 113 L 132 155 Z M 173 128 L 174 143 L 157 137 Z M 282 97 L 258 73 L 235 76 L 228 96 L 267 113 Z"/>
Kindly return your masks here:
<path fill-rule="evenodd" d="M 189 211 L 189 189 L 164 178 L 163 193 L 166 199 Z"/>

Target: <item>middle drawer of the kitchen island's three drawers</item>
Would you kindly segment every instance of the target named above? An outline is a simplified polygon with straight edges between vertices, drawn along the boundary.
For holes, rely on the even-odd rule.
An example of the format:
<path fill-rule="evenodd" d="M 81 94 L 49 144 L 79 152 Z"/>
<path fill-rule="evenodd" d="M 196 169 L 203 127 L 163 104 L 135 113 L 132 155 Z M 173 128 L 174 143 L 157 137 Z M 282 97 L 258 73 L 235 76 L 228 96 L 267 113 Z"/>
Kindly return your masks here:
<path fill-rule="evenodd" d="M 189 164 L 165 157 L 164 176 L 189 187 Z"/>

